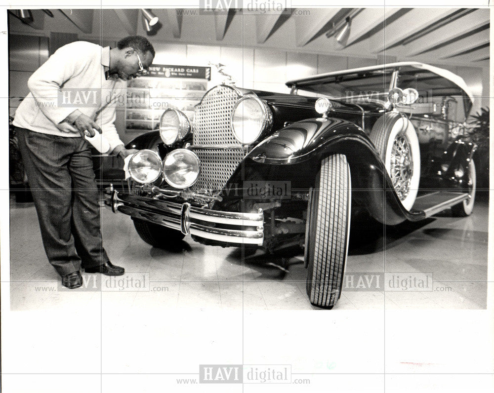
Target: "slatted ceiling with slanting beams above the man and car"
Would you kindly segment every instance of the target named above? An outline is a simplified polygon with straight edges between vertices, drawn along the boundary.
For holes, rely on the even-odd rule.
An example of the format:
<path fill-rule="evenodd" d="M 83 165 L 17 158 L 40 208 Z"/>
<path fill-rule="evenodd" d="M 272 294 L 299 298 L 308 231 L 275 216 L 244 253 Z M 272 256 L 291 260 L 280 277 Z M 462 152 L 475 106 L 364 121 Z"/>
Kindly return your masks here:
<path fill-rule="evenodd" d="M 197 9 L 156 8 L 153 12 L 162 26 L 149 38 L 157 44 L 244 46 L 376 60 L 385 57 L 397 61 L 441 62 L 453 66 L 466 63 L 479 67 L 479 62 L 487 64 L 489 59 L 485 46 L 489 44 L 490 34 L 488 8 L 365 8 L 352 18 L 350 34 L 343 47 L 336 42 L 336 35 L 327 38 L 325 33 L 335 25 L 343 26 L 351 10 L 296 8 L 284 15 L 231 12 L 215 16 L 199 13 Z M 52 11 L 53 18 L 44 16 L 43 30 L 22 24 L 9 14 L 10 31 L 44 37 L 49 37 L 50 32 L 77 31 L 79 39 L 91 40 L 99 39 L 101 33 L 103 39 L 115 41 L 129 34 L 146 35 L 138 9 L 94 10 L 92 26 L 89 26 L 89 18 L 81 17 L 77 21 L 80 28 L 60 11 Z M 69 10 L 65 12 L 70 14 Z M 70 15 L 74 18 L 79 13 L 73 10 Z"/>

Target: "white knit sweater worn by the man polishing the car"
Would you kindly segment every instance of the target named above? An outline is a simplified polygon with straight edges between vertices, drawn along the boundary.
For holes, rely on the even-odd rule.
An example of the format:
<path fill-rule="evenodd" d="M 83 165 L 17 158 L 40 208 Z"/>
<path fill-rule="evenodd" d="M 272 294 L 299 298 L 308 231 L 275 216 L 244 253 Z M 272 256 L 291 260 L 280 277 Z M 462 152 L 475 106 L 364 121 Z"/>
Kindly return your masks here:
<path fill-rule="evenodd" d="M 109 50 L 77 41 L 55 51 L 29 78 L 30 93 L 17 108 L 13 124 L 45 134 L 80 137 L 77 129 L 64 121 L 79 110 L 98 123 L 111 150 L 123 145 L 114 121 L 116 106 L 124 105 L 127 82 L 105 79 Z"/>

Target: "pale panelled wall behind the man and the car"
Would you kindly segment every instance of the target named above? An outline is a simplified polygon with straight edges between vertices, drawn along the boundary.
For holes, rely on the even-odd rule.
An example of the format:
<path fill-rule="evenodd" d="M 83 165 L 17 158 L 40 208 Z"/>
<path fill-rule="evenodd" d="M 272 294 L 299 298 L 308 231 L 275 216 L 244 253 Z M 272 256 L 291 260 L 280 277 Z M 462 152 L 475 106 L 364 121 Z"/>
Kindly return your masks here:
<path fill-rule="evenodd" d="M 80 39 L 82 39 L 80 37 Z M 231 74 L 237 85 L 245 88 L 288 93 L 285 82 L 290 79 L 303 78 L 311 75 L 338 71 L 348 68 L 365 67 L 378 64 L 377 58 L 356 58 L 349 56 L 333 56 L 325 54 L 300 53 L 282 49 L 265 47 L 232 47 L 222 45 L 197 45 L 186 43 L 166 43 L 149 38 L 156 50 L 155 64 L 208 66 L 208 62 L 226 65 L 225 71 Z M 93 42 L 97 39 L 91 39 Z M 114 44 L 107 41 L 104 44 Z M 381 60 L 381 59 L 380 59 Z M 474 92 L 476 102 L 472 113 L 481 106 L 489 105 L 489 90 L 483 94 L 483 85 L 489 83 L 489 71 L 479 67 L 444 66 L 465 79 Z M 35 67 L 36 68 L 36 67 Z M 10 96 L 27 94 L 25 82 L 34 71 L 10 70 Z M 215 68 L 211 70 L 210 86 L 222 81 Z M 13 113 L 17 105 L 10 105 Z M 124 143 L 129 142 L 137 134 L 125 132 L 124 111 L 117 113 L 116 126 Z"/>

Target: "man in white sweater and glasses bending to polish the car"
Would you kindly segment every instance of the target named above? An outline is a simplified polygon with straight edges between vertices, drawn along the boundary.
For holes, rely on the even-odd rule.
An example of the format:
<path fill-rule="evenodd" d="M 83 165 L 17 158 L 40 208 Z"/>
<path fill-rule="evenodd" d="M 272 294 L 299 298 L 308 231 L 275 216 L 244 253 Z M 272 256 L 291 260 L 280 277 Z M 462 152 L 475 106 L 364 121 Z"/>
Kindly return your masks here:
<path fill-rule="evenodd" d="M 44 249 L 68 288 L 86 273 L 123 275 L 102 245 L 99 194 L 91 152 L 83 135 L 100 132 L 110 154 L 127 150 L 114 125 L 126 80 L 146 73 L 155 51 L 140 36 L 101 47 L 77 41 L 59 48 L 28 80 L 30 93 L 13 124 L 33 194 Z M 120 98 L 120 99 L 119 99 Z"/>

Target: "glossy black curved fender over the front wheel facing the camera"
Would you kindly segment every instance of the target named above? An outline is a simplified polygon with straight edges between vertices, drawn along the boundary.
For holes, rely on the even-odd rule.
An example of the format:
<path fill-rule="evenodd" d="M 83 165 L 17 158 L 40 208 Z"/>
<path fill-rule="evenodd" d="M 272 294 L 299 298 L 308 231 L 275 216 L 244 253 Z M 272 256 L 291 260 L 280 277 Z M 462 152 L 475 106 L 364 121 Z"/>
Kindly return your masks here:
<path fill-rule="evenodd" d="M 321 159 L 330 154 L 347 157 L 352 200 L 365 207 L 376 220 L 395 225 L 425 217 L 423 212 L 408 211 L 402 205 L 384 162 L 364 131 L 340 119 L 307 119 L 275 132 L 248 154 L 227 186 L 233 189 L 244 180 L 262 179 L 289 181 L 291 189 L 308 189 L 315 186 Z M 222 196 L 225 201 L 232 199 L 231 193 Z"/>

